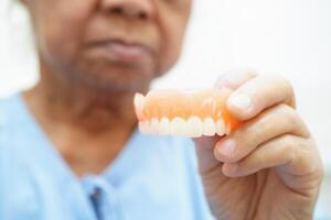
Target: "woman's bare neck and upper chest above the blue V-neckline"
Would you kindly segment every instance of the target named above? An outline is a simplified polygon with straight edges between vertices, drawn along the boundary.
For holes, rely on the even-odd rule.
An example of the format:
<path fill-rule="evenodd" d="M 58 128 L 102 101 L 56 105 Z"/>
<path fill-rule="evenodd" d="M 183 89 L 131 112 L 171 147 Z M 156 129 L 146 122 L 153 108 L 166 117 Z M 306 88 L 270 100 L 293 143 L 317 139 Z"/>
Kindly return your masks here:
<path fill-rule="evenodd" d="M 23 94 L 28 107 L 72 169 L 103 172 L 137 124 L 134 92 L 105 92 L 42 74 Z"/>

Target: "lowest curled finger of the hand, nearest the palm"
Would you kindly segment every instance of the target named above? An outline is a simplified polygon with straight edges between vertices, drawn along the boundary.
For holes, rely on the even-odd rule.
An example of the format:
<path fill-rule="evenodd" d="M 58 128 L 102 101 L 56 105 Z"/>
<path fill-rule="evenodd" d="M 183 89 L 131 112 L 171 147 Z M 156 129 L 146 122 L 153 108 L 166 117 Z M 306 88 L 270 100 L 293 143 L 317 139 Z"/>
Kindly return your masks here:
<path fill-rule="evenodd" d="M 248 176 L 270 167 L 286 168 L 291 175 L 313 173 L 320 167 L 320 160 L 311 145 L 307 139 L 286 134 L 260 145 L 238 163 L 224 164 L 222 172 L 229 177 Z"/>

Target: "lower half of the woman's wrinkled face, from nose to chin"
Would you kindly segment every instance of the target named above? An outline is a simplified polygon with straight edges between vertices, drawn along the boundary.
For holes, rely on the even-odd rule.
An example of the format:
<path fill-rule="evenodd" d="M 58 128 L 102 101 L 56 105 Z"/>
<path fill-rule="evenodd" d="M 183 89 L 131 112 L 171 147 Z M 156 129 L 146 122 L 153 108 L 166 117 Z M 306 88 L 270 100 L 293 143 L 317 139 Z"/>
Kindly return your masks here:
<path fill-rule="evenodd" d="M 139 90 L 178 59 L 192 0 L 25 0 L 43 72 Z"/>

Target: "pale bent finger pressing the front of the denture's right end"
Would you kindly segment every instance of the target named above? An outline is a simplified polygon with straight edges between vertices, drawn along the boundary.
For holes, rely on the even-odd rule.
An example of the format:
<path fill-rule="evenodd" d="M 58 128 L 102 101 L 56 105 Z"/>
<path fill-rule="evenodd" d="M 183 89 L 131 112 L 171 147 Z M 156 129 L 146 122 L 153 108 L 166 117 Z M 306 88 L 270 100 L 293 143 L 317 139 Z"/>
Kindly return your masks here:
<path fill-rule="evenodd" d="M 277 103 L 295 108 L 293 89 L 281 77 L 264 76 L 253 78 L 235 90 L 226 107 L 233 117 L 246 121 Z"/>

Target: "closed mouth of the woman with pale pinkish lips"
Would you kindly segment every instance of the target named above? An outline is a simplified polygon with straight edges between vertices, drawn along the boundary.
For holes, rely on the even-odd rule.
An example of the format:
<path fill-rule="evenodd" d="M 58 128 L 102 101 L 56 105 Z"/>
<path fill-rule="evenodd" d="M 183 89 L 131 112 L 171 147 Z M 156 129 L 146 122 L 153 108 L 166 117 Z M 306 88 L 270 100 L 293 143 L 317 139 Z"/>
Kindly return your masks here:
<path fill-rule="evenodd" d="M 153 56 L 151 47 L 122 40 L 97 41 L 90 44 L 90 48 L 98 57 L 122 64 L 139 63 Z"/>

